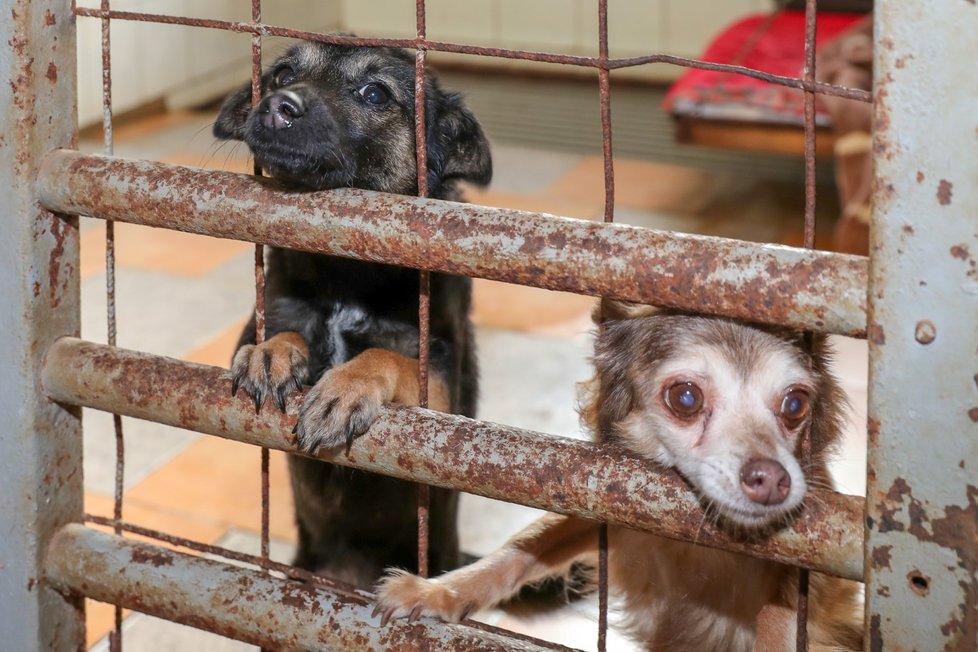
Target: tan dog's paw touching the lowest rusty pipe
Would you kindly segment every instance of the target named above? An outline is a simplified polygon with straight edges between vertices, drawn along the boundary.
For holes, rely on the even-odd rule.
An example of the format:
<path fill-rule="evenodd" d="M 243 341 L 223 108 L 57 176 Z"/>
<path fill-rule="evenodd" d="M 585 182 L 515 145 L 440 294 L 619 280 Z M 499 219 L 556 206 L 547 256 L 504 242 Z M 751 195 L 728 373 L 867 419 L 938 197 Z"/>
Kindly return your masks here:
<path fill-rule="evenodd" d="M 383 614 L 381 626 L 391 618 L 407 616 L 414 621 L 421 616 L 438 616 L 457 623 L 465 620 L 472 605 L 438 580 L 426 580 L 406 571 L 390 571 L 377 584 L 377 606 L 374 616 Z"/>

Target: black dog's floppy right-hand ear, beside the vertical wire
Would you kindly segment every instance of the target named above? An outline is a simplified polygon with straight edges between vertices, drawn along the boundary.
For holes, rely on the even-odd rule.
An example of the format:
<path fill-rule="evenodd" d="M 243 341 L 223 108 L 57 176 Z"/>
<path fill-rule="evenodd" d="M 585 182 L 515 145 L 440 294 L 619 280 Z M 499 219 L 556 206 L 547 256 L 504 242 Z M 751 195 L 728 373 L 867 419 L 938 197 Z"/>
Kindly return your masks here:
<path fill-rule="evenodd" d="M 428 94 L 428 187 L 464 180 L 486 186 L 492 180 L 489 141 L 475 116 L 455 93 Z"/>

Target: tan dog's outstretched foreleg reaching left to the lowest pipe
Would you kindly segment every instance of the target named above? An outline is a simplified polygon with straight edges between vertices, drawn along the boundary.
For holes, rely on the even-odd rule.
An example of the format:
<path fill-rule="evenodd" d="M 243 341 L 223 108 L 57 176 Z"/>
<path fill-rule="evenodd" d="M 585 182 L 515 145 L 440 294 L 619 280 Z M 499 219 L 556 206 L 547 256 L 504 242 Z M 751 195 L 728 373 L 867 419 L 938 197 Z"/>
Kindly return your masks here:
<path fill-rule="evenodd" d="M 437 579 L 391 571 L 377 586 L 377 608 L 384 612 L 384 622 L 422 614 L 457 622 L 512 597 L 526 584 L 566 573 L 576 559 L 597 549 L 598 527 L 547 514 L 491 555 Z"/>

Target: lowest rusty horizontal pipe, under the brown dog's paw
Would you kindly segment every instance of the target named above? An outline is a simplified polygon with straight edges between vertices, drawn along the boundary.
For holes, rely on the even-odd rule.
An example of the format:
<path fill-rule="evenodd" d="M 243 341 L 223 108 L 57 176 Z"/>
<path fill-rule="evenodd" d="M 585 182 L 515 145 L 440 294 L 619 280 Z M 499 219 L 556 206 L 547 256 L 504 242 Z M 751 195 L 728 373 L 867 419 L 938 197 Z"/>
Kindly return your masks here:
<path fill-rule="evenodd" d="M 365 592 L 280 579 L 79 524 L 55 534 L 44 563 L 47 580 L 64 593 L 276 650 L 554 649 L 431 618 L 381 627 Z"/>

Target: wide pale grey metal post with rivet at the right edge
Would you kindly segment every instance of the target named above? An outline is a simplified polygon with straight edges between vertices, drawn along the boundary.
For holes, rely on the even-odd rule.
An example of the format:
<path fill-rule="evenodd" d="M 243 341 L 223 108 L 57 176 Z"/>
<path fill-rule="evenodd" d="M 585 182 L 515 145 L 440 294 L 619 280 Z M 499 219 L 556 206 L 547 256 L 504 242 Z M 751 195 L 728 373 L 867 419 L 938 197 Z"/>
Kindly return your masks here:
<path fill-rule="evenodd" d="M 876 4 L 866 647 L 978 649 L 978 8 Z"/>

